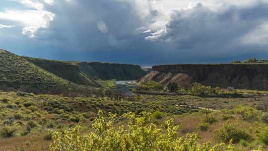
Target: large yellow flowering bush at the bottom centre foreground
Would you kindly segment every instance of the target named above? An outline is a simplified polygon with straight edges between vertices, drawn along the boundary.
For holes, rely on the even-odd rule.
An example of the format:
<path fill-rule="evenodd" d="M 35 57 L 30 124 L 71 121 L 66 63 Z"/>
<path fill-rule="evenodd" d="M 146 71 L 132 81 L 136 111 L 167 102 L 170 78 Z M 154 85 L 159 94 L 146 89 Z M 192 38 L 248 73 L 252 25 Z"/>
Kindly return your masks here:
<path fill-rule="evenodd" d="M 233 151 L 232 144 L 200 144 L 196 133 L 179 137 L 180 126 L 175 126 L 173 119 L 158 128 L 149 122 L 148 112 L 143 112 L 141 117 L 134 113 L 122 117 L 127 125 L 115 128 L 116 115 L 110 113 L 105 118 L 99 111 L 92 125 L 94 130 L 89 134 L 81 135 L 80 126 L 64 133 L 54 132 L 50 151 Z"/>

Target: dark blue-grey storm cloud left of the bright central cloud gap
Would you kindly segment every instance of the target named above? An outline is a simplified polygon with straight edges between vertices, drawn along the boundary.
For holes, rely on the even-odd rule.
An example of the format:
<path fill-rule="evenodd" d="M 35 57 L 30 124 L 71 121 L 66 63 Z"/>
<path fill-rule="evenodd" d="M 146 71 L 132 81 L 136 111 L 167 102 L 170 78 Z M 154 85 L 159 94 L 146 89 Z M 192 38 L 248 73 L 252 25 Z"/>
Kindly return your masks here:
<path fill-rule="evenodd" d="M 62 53 L 66 59 L 82 54 L 76 59 L 124 63 L 139 63 L 158 54 L 158 44 L 144 40 L 146 35 L 137 30 L 151 22 L 155 10 L 141 17 L 132 2 L 123 0 L 81 0 L 73 4 L 59 0 L 46 9 L 56 14 L 55 18 L 49 28 L 35 33 L 35 39 L 58 48 L 50 51 L 53 54 Z"/>

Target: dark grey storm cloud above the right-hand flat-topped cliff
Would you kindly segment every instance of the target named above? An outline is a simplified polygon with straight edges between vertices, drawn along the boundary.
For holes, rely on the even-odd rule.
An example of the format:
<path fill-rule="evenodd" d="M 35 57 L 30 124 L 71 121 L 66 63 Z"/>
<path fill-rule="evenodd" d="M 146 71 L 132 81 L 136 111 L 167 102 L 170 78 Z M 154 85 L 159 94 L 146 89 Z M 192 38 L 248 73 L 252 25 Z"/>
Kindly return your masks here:
<path fill-rule="evenodd" d="M 174 46 L 174 53 L 192 56 L 193 61 L 213 61 L 212 58 L 222 61 L 227 58 L 229 61 L 235 57 L 255 56 L 267 58 L 268 45 L 247 45 L 245 42 L 249 32 L 267 21 L 267 3 L 218 10 L 199 3 L 192 9 L 174 10 L 170 22 L 164 28 L 165 32 L 148 39 L 168 41 Z M 264 34 L 267 31 L 263 31 Z"/>

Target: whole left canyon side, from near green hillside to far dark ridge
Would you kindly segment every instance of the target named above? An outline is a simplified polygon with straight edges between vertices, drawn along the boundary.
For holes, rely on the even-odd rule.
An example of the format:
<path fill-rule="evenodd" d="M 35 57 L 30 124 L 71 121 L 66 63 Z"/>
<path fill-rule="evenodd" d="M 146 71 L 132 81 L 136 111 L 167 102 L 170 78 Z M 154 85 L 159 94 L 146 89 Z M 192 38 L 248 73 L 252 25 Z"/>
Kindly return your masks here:
<path fill-rule="evenodd" d="M 18 56 L 0 49 L 0 89 L 28 92 L 88 92 L 101 80 L 138 79 L 146 73 L 137 65 L 79 63 Z M 94 79 L 93 79 L 94 78 Z"/>

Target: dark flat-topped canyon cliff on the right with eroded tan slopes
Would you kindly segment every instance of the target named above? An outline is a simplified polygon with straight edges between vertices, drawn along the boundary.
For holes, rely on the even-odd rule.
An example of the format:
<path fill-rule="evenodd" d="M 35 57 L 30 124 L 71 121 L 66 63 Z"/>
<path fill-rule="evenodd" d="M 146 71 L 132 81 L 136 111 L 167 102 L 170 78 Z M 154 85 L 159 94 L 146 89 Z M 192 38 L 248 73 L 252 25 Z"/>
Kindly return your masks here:
<path fill-rule="evenodd" d="M 194 82 L 219 87 L 268 90 L 268 64 L 160 65 L 139 79 L 155 80 L 164 85 L 176 82 L 189 88 Z"/>

